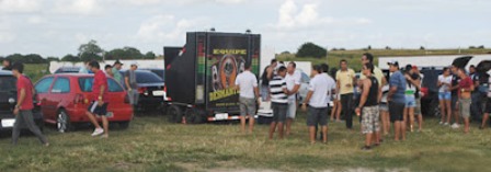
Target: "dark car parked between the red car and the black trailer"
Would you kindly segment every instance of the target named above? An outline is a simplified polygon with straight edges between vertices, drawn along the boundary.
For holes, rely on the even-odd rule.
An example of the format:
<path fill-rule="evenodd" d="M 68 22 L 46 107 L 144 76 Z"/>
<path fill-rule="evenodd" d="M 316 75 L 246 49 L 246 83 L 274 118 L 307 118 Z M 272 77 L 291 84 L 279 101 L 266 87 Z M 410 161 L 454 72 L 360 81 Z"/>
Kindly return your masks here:
<path fill-rule="evenodd" d="M 121 71 L 125 76 L 126 70 Z M 136 70 L 136 82 L 138 83 L 138 108 L 139 111 L 151 111 L 163 107 L 165 96 L 162 78 L 147 70 Z M 126 85 L 125 85 L 126 87 Z"/>

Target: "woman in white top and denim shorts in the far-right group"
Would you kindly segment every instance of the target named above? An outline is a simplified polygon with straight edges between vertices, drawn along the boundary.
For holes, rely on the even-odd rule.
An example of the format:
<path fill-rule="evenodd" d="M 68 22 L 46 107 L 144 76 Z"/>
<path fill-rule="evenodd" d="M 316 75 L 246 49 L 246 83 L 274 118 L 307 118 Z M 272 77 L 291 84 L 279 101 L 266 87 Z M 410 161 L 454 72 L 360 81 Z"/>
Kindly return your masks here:
<path fill-rule="evenodd" d="M 449 68 L 443 68 L 443 74 L 438 76 L 438 100 L 439 100 L 439 112 L 442 114 L 442 119 L 439 124 L 448 125 L 450 124 L 452 116 L 452 76 Z"/>

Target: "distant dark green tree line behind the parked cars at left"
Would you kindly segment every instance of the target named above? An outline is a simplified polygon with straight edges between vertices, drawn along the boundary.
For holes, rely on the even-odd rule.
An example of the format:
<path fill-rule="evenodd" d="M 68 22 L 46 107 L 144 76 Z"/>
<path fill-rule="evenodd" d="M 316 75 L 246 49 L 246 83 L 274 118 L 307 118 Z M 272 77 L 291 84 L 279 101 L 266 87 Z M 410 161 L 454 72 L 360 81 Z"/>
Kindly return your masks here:
<path fill-rule="evenodd" d="M 142 54 L 139 49 L 135 47 L 123 47 L 115 48 L 110 51 L 105 51 L 98 45 L 96 41 L 90 41 L 87 44 L 82 44 L 78 48 L 77 55 L 68 54 L 61 58 L 58 57 L 46 57 L 38 54 L 13 54 L 5 57 L 0 57 L 0 60 L 10 59 L 12 61 L 21 61 L 24 64 L 46 64 L 49 61 L 91 61 L 91 60 L 115 60 L 115 59 L 156 59 L 157 55 L 152 51 Z"/>

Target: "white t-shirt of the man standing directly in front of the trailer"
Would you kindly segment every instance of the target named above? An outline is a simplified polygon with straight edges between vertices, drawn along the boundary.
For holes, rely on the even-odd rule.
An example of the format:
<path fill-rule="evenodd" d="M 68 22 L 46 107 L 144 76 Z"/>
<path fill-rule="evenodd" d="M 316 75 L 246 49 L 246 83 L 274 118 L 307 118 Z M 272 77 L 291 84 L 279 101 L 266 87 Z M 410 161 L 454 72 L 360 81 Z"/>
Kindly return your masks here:
<path fill-rule="evenodd" d="M 258 79 L 251 71 L 243 71 L 236 78 L 236 84 L 240 87 L 240 96 L 254 99 L 254 88 L 258 87 Z"/>

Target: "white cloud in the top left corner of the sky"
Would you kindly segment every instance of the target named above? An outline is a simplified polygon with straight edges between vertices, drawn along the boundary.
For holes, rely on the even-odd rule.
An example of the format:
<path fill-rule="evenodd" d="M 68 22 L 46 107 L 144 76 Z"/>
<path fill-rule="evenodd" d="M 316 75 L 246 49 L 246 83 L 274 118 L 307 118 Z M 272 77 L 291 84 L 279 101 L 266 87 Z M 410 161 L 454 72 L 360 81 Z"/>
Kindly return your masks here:
<path fill-rule="evenodd" d="M 42 0 L 0 0 L 0 13 L 30 13 L 41 10 Z"/>

